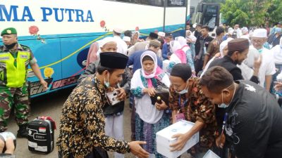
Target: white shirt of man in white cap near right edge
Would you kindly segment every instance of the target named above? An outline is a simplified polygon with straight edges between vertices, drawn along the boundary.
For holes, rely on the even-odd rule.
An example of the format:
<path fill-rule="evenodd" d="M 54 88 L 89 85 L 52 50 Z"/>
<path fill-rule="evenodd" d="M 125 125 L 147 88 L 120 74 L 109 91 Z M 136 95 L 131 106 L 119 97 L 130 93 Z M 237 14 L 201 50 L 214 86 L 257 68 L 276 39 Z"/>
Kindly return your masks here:
<path fill-rule="evenodd" d="M 253 47 L 253 46 L 251 46 Z M 276 73 L 274 58 L 270 50 L 263 48 L 262 50 L 262 64 L 259 67 L 259 86 L 264 87 L 265 76 Z"/>

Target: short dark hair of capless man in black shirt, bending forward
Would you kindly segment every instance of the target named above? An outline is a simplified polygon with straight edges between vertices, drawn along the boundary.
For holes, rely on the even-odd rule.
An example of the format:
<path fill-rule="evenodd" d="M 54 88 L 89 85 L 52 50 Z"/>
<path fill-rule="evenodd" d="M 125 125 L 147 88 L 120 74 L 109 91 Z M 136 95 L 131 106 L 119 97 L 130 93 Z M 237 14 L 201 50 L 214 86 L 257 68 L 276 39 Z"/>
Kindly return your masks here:
<path fill-rule="evenodd" d="M 223 88 L 233 83 L 233 76 L 224 67 L 210 67 L 200 79 L 199 84 L 206 86 L 212 93 L 221 93 Z"/>

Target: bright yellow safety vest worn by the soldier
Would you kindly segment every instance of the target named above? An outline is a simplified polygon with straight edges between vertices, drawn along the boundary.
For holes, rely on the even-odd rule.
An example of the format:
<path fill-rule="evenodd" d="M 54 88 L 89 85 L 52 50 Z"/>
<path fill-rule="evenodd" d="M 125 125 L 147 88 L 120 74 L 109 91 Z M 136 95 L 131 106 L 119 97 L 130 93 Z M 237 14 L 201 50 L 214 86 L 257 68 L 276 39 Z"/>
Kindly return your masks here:
<path fill-rule="evenodd" d="M 14 61 L 17 62 L 17 67 L 14 65 Z M 26 67 L 30 60 L 30 52 L 18 51 L 17 58 L 13 58 L 11 53 L 0 53 L 0 62 L 6 67 L 6 72 L 1 70 L 0 79 L 4 81 L 6 76 L 6 86 L 8 87 L 21 87 L 26 80 Z"/>

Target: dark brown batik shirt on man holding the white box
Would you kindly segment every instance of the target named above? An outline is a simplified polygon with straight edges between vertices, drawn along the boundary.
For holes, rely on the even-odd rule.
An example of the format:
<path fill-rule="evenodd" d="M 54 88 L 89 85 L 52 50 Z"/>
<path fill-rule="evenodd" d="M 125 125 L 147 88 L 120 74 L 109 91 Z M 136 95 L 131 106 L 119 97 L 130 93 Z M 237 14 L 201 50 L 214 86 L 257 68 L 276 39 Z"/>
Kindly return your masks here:
<path fill-rule="evenodd" d="M 199 143 L 190 148 L 190 153 L 192 154 L 206 152 L 212 148 L 217 129 L 214 104 L 204 96 L 198 81 L 199 79 L 193 78 L 193 83 L 192 86 L 189 86 L 188 93 L 182 95 L 176 93 L 173 86 L 169 90 L 169 106 L 172 110 L 183 112 L 187 121 L 194 123 L 195 121 L 200 121 L 204 123 L 203 129 L 200 130 Z"/>

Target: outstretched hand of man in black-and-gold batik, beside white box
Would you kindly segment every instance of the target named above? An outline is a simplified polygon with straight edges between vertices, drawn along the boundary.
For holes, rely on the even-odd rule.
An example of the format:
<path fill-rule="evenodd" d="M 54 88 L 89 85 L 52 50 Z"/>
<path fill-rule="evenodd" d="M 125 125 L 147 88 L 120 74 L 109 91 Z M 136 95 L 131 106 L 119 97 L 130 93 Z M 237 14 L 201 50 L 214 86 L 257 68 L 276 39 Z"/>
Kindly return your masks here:
<path fill-rule="evenodd" d="M 133 153 L 136 157 L 145 158 L 149 157 L 149 152 L 146 152 L 140 145 L 144 145 L 146 142 L 142 141 L 133 141 L 129 143 L 130 152 Z"/>

